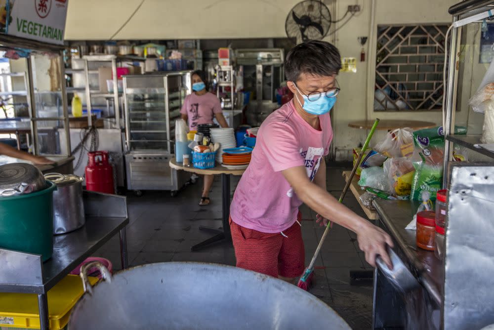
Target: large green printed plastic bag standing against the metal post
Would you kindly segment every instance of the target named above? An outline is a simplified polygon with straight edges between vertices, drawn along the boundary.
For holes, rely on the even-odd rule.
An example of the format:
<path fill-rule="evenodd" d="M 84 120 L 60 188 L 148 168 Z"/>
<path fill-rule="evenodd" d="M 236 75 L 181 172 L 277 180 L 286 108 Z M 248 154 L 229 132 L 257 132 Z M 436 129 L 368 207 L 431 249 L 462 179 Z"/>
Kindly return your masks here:
<path fill-rule="evenodd" d="M 454 134 L 466 134 L 466 127 L 454 127 Z M 430 199 L 443 185 L 444 131 L 443 127 L 420 129 L 413 132 L 415 155 L 412 180 L 412 200 L 421 201 L 422 192 L 428 191 Z"/>

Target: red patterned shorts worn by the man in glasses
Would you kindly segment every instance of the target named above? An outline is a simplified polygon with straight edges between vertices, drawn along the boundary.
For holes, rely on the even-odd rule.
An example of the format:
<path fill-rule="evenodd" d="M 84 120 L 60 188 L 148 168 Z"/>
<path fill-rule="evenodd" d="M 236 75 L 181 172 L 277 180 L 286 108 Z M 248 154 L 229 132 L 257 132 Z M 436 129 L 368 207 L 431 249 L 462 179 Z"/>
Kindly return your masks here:
<path fill-rule="evenodd" d="M 298 214 L 300 221 L 300 213 Z M 230 217 L 237 267 L 273 277 L 297 277 L 305 265 L 300 224 L 295 222 L 281 233 L 263 233 L 236 224 Z"/>

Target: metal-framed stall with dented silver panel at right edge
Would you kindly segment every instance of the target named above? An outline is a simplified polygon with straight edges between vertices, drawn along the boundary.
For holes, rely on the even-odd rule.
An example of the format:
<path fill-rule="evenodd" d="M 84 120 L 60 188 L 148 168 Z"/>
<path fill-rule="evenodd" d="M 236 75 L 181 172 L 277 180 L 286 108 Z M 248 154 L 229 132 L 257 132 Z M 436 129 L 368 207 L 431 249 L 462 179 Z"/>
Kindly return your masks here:
<path fill-rule="evenodd" d="M 465 0 L 453 5 L 449 13 L 453 15 L 453 22 L 457 22 L 479 13 L 492 17 L 493 9 L 494 0 Z M 441 319 L 442 329 L 481 329 L 494 323 L 491 312 L 494 308 L 491 290 L 494 248 L 490 243 L 494 235 L 494 152 L 477 147 L 481 135 L 472 133 L 480 131 L 483 116 L 473 114 L 465 100 L 476 92 L 488 64 L 480 63 L 482 33 L 470 33 L 480 32 L 483 22 L 473 18 L 471 23 L 457 24 L 461 26 L 451 30 L 444 127 L 447 143 L 443 185 L 448 189 L 448 213 Z M 489 49 L 492 42 L 488 44 Z M 470 43 L 472 47 L 468 47 Z M 471 63 L 460 58 L 465 49 L 480 50 L 472 51 Z M 467 70 L 467 64 L 471 64 L 471 71 Z M 466 111 L 466 107 L 470 135 L 455 135 L 456 110 Z M 474 156 L 480 162 L 471 162 L 470 154 L 470 162 L 451 162 L 453 144 L 475 151 Z M 476 275 L 470 277 L 470 274 Z"/>

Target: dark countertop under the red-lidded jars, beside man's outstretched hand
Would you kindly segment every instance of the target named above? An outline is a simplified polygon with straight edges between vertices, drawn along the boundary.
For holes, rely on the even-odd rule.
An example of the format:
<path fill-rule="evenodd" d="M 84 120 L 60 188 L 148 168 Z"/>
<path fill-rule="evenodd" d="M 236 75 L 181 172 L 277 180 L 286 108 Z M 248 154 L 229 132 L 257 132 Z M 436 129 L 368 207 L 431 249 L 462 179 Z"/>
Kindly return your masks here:
<path fill-rule="evenodd" d="M 412 221 L 419 202 L 375 199 L 373 205 L 379 214 L 380 221 L 398 245 L 395 247 L 395 250 L 398 250 L 397 253 L 431 297 L 441 305 L 444 266 L 433 251 L 417 248 L 415 231 L 405 229 Z"/>

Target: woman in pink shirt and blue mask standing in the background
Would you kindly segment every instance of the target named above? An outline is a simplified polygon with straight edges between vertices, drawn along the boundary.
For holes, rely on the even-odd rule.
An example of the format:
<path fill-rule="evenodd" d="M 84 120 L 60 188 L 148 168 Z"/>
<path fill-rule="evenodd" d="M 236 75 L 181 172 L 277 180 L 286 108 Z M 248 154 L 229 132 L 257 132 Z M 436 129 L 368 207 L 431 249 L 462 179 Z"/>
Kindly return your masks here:
<path fill-rule="evenodd" d="M 197 130 L 199 124 L 212 124 L 216 118 L 221 127 L 228 127 L 221 103 L 216 95 L 207 91 L 206 75 L 204 71 L 197 70 L 192 73 L 192 94 L 185 97 L 180 113 L 182 119 L 188 122 L 190 130 Z M 209 204 L 209 191 L 214 181 L 214 175 L 204 176 L 203 195 L 199 205 Z"/>

